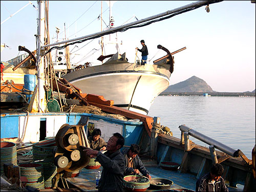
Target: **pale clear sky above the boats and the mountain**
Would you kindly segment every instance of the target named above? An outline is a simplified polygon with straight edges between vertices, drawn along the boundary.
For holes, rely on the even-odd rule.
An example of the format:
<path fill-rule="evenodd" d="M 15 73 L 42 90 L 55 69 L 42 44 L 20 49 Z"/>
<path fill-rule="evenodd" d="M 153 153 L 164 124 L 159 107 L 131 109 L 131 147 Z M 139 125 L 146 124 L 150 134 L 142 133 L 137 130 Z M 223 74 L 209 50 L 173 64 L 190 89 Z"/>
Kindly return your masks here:
<path fill-rule="evenodd" d="M 102 30 L 108 29 L 109 1 L 102 1 Z M 111 13 L 114 26 L 135 22 L 173 10 L 197 1 L 112 1 Z M 37 1 L 31 1 L 37 7 Z M 9 48 L 1 52 L 1 61 L 10 60 L 24 51 L 36 49 L 37 9 L 29 1 L 1 1 L 1 44 Z M 23 9 L 22 9 L 23 8 Z M 22 10 L 20 10 L 22 9 Z M 185 12 L 157 23 L 118 32 L 111 40 L 118 38 L 120 53 L 126 53 L 129 62 L 136 58 L 136 47 L 140 40 L 148 48 L 148 60 L 153 61 L 166 55 L 157 49 L 162 45 L 170 52 L 186 47 L 174 56 L 174 72 L 170 85 L 197 76 L 206 81 L 214 91 L 246 92 L 255 89 L 255 4 L 251 1 L 223 1 Z M 15 12 L 18 13 L 13 15 Z M 56 41 L 56 27 L 60 28 L 58 40 L 66 36 L 73 39 L 101 31 L 101 1 L 49 1 L 50 42 Z M 136 17 L 136 18 L 135 18 Z M 105 25 L 106 23 L 106 25 Z M 109 36 L 104 36 L 108 40 Z M 70 47 L 71 61 L 83 65 L 101 65 L 100 38 L 88 40 Z M 105 47 L 103 55 L 116 53 L 115 45 Z M 140 52 L 138 57 L 141 58 Z"/>

